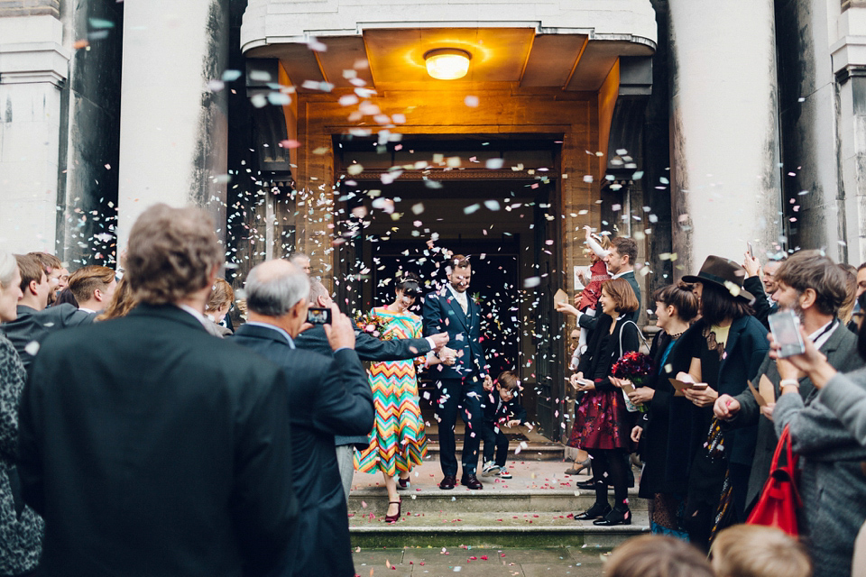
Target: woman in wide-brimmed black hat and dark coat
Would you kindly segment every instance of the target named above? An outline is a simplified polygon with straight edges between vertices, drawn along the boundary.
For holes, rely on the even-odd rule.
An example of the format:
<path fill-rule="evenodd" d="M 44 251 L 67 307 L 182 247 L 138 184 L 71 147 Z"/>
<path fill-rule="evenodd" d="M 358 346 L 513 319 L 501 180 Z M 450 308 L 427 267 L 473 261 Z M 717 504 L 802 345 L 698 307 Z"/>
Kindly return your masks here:
<path fill-rule="evenodd" d="M 668 453 L 668 474 L 678 468 L 688 475 L 686 529 L 692 543 L 704 548 L 716 531 L 746 520 L 757 427 L 723 431 L 713 417 L 715 399 L 746 389 L 769 350 L 767 329 L 751 316 L 753 298 L 742 289 L 744 278 L 739 264 L 718 256 L 707 257 L 696 276 L 683 277 L 696 283 L 701 318 L 679 347 L 691 358 L 688 376 L 700 384 L 671 407 L 671 425 L 680 434 L 684 425 L 689 430 L 690 451 L 685 462 Z M 680 380 L 686 375 L 680 373 Z"/>

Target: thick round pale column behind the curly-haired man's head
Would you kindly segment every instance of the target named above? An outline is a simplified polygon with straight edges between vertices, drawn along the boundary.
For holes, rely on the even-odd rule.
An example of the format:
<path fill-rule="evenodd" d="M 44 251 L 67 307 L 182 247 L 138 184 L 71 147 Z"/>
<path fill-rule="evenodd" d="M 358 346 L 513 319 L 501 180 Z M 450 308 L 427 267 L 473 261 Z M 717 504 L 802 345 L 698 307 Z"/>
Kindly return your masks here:
<path fill-rule="evenodd" d="M 207 207 L 226 230 L 228 0 L 124 2 L 118 246 L 154 203 Z"/>

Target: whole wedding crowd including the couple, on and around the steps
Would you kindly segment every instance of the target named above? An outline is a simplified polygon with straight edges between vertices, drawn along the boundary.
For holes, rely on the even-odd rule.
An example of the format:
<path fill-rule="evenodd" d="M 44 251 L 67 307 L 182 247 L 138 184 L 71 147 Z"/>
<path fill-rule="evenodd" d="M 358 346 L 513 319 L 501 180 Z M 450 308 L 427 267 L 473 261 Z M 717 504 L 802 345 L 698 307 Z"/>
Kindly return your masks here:
<path fill-rule="evenodd" d="M 586 243 L 586 286 L 556 305 L 580 329 L 567 444 L 585 452 L 576 467 L 595 494 L 575 518 L 631 524 L 638 453 L 655 534 L 622 545 L 605 572 L 850 574 L 866 521 L 866 266 L 814 251 L 764 266 L 710 256 L 651 295 L 650 344 L 637 244 L 589 231 Z M 520 379 L 488 373 L 472 264 L 443 254 L 441 287 L 425 294 L 402 273 L 390 302 L 353 320 L 302 253 L 253 267 L 236 300 L 217 278 L 213 224 L 193 208 L 145 211 L 122 274 L 0 251 L 0 576 L 354 575 L 355 472 L 382 474 L 395 523 L 427 455 L 419 371 L 437 384 L 439 489 L 510 478 L 506 433 L 527 424 Z M 797 315 L 804 353 L 782 358 L 768 338 L 778 310 Z M 639 351 L 646 374 L 622 374 Z M 801 542 L 742 525 L 786 426 Z"/>

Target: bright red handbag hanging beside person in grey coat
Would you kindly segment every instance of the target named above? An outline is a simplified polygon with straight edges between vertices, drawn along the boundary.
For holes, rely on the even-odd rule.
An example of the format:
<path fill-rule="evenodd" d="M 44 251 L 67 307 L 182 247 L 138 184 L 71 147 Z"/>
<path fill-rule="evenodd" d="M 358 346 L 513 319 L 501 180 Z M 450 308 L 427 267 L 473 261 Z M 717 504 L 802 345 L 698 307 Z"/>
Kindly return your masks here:
<path fill-rule="evenodd" d="M 779 457 L 784 459 L 784 464 L 779 463 Z M 797 490 L 797 459 L 791 452 L 791 435 L 785 426 L 773 453 L 769 479 L 760 492 L 758 503 L 751 509 L 747 524 L 778 527 L 790 536 L 799 535 L 797 509 L 803 506 L 803 501 Z"/>

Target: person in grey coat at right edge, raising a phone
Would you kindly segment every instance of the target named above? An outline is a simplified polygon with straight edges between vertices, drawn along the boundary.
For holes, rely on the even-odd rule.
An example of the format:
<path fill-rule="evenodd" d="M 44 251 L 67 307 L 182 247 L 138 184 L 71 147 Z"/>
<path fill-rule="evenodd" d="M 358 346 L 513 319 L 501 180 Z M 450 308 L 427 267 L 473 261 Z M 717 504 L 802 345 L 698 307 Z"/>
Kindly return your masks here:
<path fill-rule="evenodd" d="M 863 337 L 861 333 L 858 352 L 866 358 Z M 861 465 L 866 446 L 854 435 L 856 419 L 840 409 L 854 406 L 866 393 L 866 369 L 838 374 L 807 338 L 804 341 L 806 353 L 777 361 L 782 394 L 772 418 L 778 435 L 789 427 L 792 448 L 801 456 L 802 528 L 815 577 L 850 575 L 854 539 L 866 522 L 866 473 Z M 822 389 L 808 405 L 797 394 L 797 369 Z M 847 417 L 847 423 L 840 417 Z"/>

